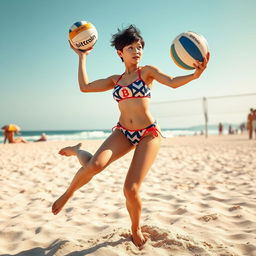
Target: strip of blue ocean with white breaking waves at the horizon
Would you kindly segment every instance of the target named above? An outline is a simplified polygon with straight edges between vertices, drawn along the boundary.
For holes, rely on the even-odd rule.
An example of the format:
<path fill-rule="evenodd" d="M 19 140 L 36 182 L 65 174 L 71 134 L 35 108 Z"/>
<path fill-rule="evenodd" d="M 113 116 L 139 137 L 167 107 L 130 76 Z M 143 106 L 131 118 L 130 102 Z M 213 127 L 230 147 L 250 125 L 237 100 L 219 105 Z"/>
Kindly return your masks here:
<path fill-rule="evenodd" d="M 164 137 L 176 136 L 193 136 L 199 135 L 203 128 L 201 126 L 191 128 L 178 128 L 178 129 L 162 129 Z M 38 130 L 38 131 L 21 131 L 16 137 L 23 137 L 27 141 L 35 141 L 39 139 L 42 133 L 47 135 L 48 141 L 64 141 L 64 140 L 102 140 L 106 139 L 112 130 Z M 208 134 L 218 134 L 217 128 L 208 130 Z M 3 143 L 3 133 L 0 133 L 0 143 Z"/>

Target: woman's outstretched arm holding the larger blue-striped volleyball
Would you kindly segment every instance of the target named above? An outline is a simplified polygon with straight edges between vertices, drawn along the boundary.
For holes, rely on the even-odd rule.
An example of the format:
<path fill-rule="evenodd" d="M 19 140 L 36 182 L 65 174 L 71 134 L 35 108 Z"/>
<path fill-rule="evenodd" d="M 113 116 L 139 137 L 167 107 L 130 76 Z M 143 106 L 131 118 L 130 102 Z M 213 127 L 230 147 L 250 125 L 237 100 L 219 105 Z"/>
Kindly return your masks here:
<path fill-rule="evenodd" d="M 197 79 L 201 76 L 201 74 L 204 72 L 204 70 L 207 67 L 207 63 L 210 59 L 210 53 L 207 54 L 207 56 L 204 58 L 203 62 L 197 61 L 196 64 L 194 64 L 195 72 L 190 75 L 186 76 L 177 76 L 177 77 L 171 77 L 169 75 L 166 75 L 162 73 L 159 69 L 153 66 L 147 66 L 148 67 L 148 75 L 155 79 L 157 82 L 167 85 L 172 88 L 178 88 L 182 85 L 185 85 L 189 82 L 191 82 L 194 79 Z"/>

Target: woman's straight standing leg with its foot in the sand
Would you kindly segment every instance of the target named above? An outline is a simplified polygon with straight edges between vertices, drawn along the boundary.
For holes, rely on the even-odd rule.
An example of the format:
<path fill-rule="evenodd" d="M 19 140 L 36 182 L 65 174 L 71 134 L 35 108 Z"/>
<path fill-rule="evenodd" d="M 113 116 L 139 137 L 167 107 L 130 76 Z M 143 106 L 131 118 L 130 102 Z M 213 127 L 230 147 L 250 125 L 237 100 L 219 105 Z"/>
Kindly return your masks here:
<path fill-rule="evenodd" d="M 132 238 L 136 246 L 145 243 L 145 238 L 140 229 L 141 199 L 139 189 L 158 153 L 161 143 L 160 136 L 145 136 L 137 145 L 134 156 L 126 176 L 124 195 L 126 207 L 132 222 Z"/>

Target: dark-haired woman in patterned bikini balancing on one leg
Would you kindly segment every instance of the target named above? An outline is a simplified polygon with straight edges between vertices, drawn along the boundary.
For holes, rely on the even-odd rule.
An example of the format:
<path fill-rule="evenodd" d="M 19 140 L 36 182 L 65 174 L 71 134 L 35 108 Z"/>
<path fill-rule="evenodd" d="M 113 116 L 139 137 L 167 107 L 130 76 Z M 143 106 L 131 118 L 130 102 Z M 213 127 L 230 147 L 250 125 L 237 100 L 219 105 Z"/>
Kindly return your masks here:
<path fill-rule="evenodd" d="M 142 202 L 139 195 L 141 184 L 153 164 L 161 143 L 161 132 L 156 120 L 149 112 L 153 81 L 178 88 L 201 76 L 210 54 L 203 62 L 194 64 L 195 72 L 186 76 L 171 77 L 154 66 L 139 66 L 142 58 L 144 40 L 140 31 L 133 25 L 118 30 L 112 36 L 111 45 L 117 50 L 124 63 L 121 75 L 90 82 L 86 71 L 87 55 L 90 51 L 79 51 L 78 81 L 82 92 L 103 92 L 113 90 L 113 98 L 120 110 L 119 122 L 112 134 L 103 142 L 94 155 L 80 149 L 81 144 L 60 150 L 64 156 L 77 156 L 82 167 L 71 184 L 52 205 L 53 214 L 58 214 L 74 192 L 87 184 L 96 174 L 129 151 L 134 150 L 133 158 L 124 182 L 126 207 L 131 219 L 133 243 L 140 247 L 146 242 L 141 232 Z"/>

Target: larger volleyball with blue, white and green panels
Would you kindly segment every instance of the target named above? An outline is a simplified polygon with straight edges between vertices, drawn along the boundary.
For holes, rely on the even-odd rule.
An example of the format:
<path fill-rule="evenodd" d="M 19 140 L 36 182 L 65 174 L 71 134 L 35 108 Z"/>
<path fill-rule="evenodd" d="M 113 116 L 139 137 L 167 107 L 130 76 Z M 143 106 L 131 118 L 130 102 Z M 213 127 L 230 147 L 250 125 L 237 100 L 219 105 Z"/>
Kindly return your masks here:
<path fill-rule="evenodd" d="M 178 35 L 171 45 L 171 57 L 174 63 L 183 69 L 195 69 L 193 63 L 203 61 L 208 53 L 206 39 L 195 32 L 184 32 Z"/>

